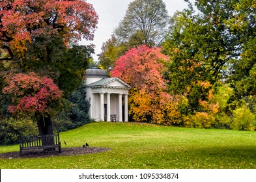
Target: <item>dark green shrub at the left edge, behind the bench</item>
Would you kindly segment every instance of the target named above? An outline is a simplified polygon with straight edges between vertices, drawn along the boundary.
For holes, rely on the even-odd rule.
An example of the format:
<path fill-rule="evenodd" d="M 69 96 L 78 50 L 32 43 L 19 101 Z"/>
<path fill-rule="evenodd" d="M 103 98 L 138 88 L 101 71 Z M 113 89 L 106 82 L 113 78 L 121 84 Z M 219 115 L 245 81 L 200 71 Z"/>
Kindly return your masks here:
<path fill-rule="evenodd" d="M 7 118 L 0 121 L 0 145 L 17 144 L 21 135 L 38 135 L 33 120 Z"/>

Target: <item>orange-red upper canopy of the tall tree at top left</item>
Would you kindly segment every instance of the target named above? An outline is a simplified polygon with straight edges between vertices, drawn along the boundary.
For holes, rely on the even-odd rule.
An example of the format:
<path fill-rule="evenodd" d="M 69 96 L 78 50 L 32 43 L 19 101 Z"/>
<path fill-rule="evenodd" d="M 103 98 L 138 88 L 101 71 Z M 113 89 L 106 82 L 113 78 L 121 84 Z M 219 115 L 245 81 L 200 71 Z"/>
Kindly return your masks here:
<path fill-rule="evenodd" d="M 0 1 L 0 47 L 9 58 L 20 57 L 26 44 L 42 34 L 61 36 L 67 44 L 81 37 L 92 40 L 98 16 L 83 0 Z"/>

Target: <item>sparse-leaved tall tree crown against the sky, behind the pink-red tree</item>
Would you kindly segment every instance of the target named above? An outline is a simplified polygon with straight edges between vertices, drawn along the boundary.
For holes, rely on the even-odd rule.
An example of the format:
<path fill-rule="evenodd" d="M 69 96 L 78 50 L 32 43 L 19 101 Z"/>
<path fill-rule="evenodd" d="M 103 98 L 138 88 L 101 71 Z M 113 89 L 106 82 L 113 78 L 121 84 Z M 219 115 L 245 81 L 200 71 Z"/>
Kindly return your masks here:
<path fill-rule="evenodd" d="M 160 45 L 168 28 L 169 16 L 162 0 L 135 0 L 115 30 L 121 42 Z"/>

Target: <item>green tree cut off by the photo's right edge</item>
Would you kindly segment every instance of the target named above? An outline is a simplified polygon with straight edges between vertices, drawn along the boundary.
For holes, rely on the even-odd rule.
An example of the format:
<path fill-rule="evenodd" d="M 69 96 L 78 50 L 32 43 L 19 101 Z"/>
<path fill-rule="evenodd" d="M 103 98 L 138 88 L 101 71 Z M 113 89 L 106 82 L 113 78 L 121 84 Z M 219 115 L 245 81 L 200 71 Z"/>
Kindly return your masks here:
<path fill-rule="evenodd" d="M 235 18 L 229 25 L 240 36 L 240 56 L 231 61 L 231 86 L 235 88 L 236 101 L 242 98 L 255 102 L 256 94 L 256 1 L 240 1 Z"/>

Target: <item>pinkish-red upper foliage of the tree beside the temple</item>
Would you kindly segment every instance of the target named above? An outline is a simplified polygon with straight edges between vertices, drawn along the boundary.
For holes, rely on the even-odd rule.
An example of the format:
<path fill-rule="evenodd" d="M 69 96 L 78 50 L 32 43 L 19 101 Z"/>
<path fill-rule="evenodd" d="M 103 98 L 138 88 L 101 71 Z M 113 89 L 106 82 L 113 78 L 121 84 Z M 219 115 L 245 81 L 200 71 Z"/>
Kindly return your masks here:
<path fill-rule="evenodd" d="M 120 77 L 133 87 L 156 92 L 160 88 L 165 88 L 162 63 L 168 60 L 159 47 L 140 45 L 127 51 L 115 62 L 111 75 Z"/>

